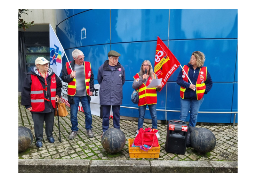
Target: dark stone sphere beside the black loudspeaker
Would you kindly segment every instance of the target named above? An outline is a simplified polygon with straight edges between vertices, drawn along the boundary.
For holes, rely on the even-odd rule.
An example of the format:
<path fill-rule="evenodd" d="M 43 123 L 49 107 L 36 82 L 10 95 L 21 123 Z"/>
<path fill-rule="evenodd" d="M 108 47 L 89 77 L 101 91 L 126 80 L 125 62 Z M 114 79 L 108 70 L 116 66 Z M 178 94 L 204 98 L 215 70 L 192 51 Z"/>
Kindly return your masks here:
<path fill-rule="evenodd" d="M 210 130 L 206 128 L 197 128 L 190 134 L 191 146 L 198 152 L 206 153 L 214 149 L 216 138 Z"/>

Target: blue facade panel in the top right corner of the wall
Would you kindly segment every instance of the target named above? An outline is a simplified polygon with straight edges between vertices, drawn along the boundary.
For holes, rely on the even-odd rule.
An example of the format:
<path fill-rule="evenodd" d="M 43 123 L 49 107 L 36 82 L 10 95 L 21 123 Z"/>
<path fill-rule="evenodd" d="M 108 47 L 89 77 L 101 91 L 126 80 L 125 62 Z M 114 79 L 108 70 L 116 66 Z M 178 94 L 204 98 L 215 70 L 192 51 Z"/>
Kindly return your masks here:
<path fill-rule="evenodd" d="M 171 9 L 169 39 L 237 38 L 237 9 Z"/>

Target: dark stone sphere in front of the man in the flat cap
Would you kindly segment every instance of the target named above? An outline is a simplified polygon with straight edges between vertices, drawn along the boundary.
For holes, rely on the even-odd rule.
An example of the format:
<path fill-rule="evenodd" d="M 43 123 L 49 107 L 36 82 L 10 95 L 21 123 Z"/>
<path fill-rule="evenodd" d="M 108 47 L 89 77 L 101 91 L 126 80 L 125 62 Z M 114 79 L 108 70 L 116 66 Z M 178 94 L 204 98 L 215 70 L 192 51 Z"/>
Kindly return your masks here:
<path fill-rule="evenodd" d="M 110 128 L 102 135 L 101 143 L 106 151 L 115 154 L 125 146 L 125 134 L 117 128 Z"/>

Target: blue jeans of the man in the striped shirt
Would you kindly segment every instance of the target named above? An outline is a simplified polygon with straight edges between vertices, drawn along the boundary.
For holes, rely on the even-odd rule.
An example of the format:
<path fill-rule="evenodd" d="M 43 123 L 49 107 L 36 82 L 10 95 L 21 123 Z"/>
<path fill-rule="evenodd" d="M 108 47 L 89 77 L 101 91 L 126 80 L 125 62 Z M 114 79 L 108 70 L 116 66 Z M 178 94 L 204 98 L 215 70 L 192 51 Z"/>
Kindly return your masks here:
<path fill-rule="evenodd" d="M 87 96 L 83 96 L 83 97 L 74 96 L 74 102 L 75 104 L 70 104 L 70 120 L 72 124 L 71 130 L 78 131 L 77 112 L 78 112 L 79 102 L 81 102 L 83 111 L 85 112 L 85 128 L 86 130 L 91 130 L 93 128 L 91 126 L 91 124 L 93 123 L 93 119 L 91 117 L 91 108 L 90 108 L 90 104 Z"/>

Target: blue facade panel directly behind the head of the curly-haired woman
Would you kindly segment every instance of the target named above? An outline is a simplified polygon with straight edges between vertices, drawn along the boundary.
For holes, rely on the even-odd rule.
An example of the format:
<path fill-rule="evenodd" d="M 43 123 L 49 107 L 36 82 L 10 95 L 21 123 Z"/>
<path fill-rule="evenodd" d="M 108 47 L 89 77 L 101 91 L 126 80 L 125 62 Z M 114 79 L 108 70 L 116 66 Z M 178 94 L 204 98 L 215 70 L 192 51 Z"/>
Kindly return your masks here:
<path fill-rule="evenodd" d="M 169 49 L 182 66 L 189 63 L 193 51 L 201 51 L 213 82 L 234 81 L 237 39 L 169 41 Z M 176 81 L 178 73 L 174 72 L 168 81 Z"/>

